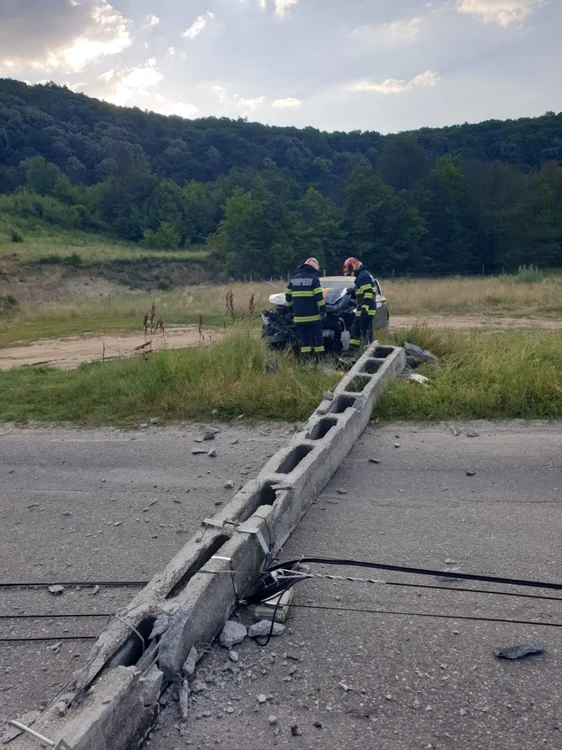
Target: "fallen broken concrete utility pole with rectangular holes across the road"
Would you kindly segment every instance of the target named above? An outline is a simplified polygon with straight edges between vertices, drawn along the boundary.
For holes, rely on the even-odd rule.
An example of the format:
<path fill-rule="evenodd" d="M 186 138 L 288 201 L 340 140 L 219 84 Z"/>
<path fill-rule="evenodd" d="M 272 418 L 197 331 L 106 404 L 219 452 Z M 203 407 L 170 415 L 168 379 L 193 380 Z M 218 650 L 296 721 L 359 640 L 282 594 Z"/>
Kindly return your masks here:
<path fill-rule="evenodd" d="M 131 750 L 180 679 L 193 647 L 214 640 L 237 602 L 295 530 L 358 437 L 402 349 L 374 343 L 306 424 L 100 634 L 72 688 L 34 729 L 73 750 Z M 56 741 L 55 741 L 56 742 Z M 28 736 L 13 750 L 36 750 Z"/>

